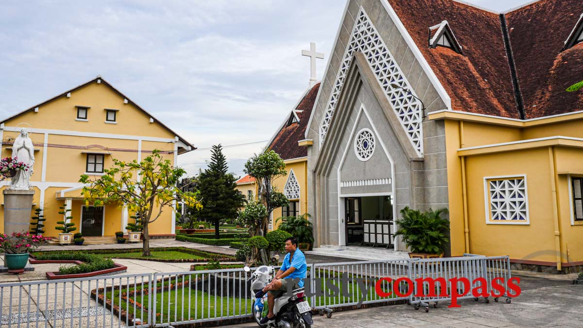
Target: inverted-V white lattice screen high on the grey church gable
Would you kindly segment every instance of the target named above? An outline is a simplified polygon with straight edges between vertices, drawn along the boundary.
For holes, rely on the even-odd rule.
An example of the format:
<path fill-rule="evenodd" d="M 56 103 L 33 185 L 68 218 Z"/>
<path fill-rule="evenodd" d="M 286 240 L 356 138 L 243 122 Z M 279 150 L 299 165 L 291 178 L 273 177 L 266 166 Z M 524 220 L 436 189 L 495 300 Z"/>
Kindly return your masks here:
<path fill-rule="evenodd" d="M 423 132 L 421 123 L 423 112 L 421 103 L 419 100 L 415 99 L 415 97 L 405 92 L 405 90 L 401 88 L 392 88 L 391 83 L 395 83 L 415 94 L 413 88 L 411 88 L 409 82 L 405 79 L 405 75 L 401 72 L 395 59 L 391 53 L 389 53 L 387 46 L 382 41 L 377 30 L 362 8 L 360 9 L 356 23 L 354 23 L 352 36 L 350 36 L 342 63 L 340 64 L 338 76 L 336 76 L 336 81 L 332 88 L 330 99 L 328 100 L 328 104 L 326 104 L 324 117 L 322 117 L 320 123 L 320 146 L 324 144 L 324 139 L 328 133 L 328 128 L 330 127 L 336 104 L 338 104 L 338 98 L 342 86 L 344 85 L 346 74 L 350 68 L 350 61 L 352 60 L 354 52 L 363 53 L 366 57 L 368 65 L 370 65 L 373 70 L 378 83 L 380 83 L 387 99 L 399 117 L 399 121 L 407 133 L 409 141 L 411 141 L 413 147 L 417 150 L 419 155 L 421 155 L 423 153 Z"/>

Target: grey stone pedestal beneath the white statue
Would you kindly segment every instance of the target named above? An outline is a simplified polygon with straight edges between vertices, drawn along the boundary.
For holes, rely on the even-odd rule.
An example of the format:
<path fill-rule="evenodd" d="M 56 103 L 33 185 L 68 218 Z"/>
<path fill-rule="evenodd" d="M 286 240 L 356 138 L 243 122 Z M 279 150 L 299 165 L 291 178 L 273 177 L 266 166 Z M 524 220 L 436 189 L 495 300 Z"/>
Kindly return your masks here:
<path fill-rule="evenodd" d="M 4 195 L 4 233 L 29 231 L 34 190 L 2 191 Z"/>

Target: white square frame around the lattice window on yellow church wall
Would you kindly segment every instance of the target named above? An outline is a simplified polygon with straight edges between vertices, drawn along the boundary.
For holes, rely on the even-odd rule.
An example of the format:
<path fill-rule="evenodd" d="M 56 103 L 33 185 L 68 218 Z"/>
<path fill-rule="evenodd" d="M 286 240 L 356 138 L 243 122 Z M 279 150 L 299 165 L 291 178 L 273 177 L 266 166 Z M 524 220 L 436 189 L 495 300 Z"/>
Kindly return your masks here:
<path fill-rule="evenodd" d="M 518 179 L 512 179 L 512 178 L 518 178 Z M 518 193 L 524 191 L 524 197 L 518 197 L 518 198 L 524 198 L 524 204 L 520 204 L 517 208 L 514 205 L 510 204 L 511 202 L 508 201 L 507 198 L 504 198 L 502 201 L 500 201 L 500 203 L 504 203 L 503 210 L 506 212 L 506 215 L 505 215 L 506 218 L 495 221 L 494 219 L 492 219 L 492 215 L 493 215 L 492 208 L 491 208 L 492 202 L 491 202 L 491 198 L 490 198 L 492 191 L 490 190 L 490 182 L 500 181 L 500 182 L 504 182 L 504 183 L 509 183 L 510 180 L 522 180 L 522 182 L 524 182 L 524 187 L 522 187 L 522 188 L 517 187 L 515 190 Z M 508 191 L 508 190 L 505 189 L 504 191 Z M 507 195 L 504 195 L 504 196 L 507 196 Z M 518 201 L 523 201 L 523 200 L 519 199 Z M 511 211 L 512 211 L 511 206 L 514 207 L 514 215 L 517 215 L 517 212 L 518 212 L 518 214 L 524 214 L 525 219 L 524 220 L 511 219 L 511 217 L 514 216 L 511 213 Z M 524 206 L 524 208 L 522 208 L 522 206 Z M 529 208 L 528 208 L 528 184 L 526 183 L 526 175 L 487 176 L 487 177 L 484 177 L 484 210 L 486 213 L 486 224 L 529 225 L 531 223 L 531 221 L 530 221 L 530 214 L 529 214 Z"/>

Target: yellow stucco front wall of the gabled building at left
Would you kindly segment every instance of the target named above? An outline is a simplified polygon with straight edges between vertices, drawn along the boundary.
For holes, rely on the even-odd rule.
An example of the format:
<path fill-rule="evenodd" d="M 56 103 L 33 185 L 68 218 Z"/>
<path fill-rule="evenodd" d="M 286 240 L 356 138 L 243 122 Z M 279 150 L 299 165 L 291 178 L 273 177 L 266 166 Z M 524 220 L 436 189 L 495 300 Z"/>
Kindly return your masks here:
<path fill-rule="evenodd" d="M 89 106 L 87 121 L 78 121 L 76 106 Z M 117 124 L 107 124 L 106 110 L 118 109 Z M 30 126 L 29 126 L 30 125 Z M 64 199 L 57 199 L 57 191 L 80 186 L 79 177 L 86 171 L 87 151 L 104 153 L 104 167 L 110 167 L 113 158 L 120 160 L 143 159 L 150 155 L 153 149 L 162 151 L 174 151 L 175 135 L 163 125 L 150 123 L 150 117 L 139 110 L 133 104 L 124 104 L 124 97 L 104 83 L 93 82 L 71 93 L 71 97 L 61 96 L 40 106 L 38 112 L 29 111 L 5 121 L 1 131 L 2 142 L 11 142 L 19 134 L 19 130 L 26 127 L 29 136 L 35 144 L 34 174 L 31 176 L 31 184 L 35 190 L 34 201 L 39 207 L 43 205 L 45 221 L 45 236 L 57 236 L 54 229 L 56 222 L 62 220 L 58 214 L 59 207 Z M 126 137 L 127 136 L 127 137 Z M 47 141 L 46 154 L 43 144 Z M 142 153 L 138 153 L 139 140 L 141 138 L 154 138 L 155 141 L 142 140 Z M 155 139 L 160 138 L 160 139 Z M 87 147 L 89 149 L 79 149 Z M 104 151 L 100 148 L 109 148 Z M 7 149 L 11 145 L 3 145 L 2 158 L 12 155 Z M 116 150 L 111 150 L 116 149 Z M 46 156 L 46 159 L 44 159 Z M 174 163 L 174 153 L 163 154 L 164 159 Z M 43 161 L 46 160 L 46 163 Z M 43 166 L 45 177 L 43 180 Z M 99 176 L 99 175 L 95 175 Z M 9 184 L 9 179 L 3 182 L 3 186 Z M 2 187 L 4 189 L 5 187 Z M 44 190 L 44 198 L 41 201 L 41 191 Z M 69 197 L 78 196 L 79 191 L 67 194 Z M 0 196 L 3 197 L 3 196 Z M 3 201 L 2 201 L 3 202 Z M 79 231 L 82 201 L 72 201 L 73 223 Z M 173 210 L 164 208 L 163 214 L 156 222 L 150 225 L 151 234 L 166 235 L 172 232 Z M 31 211 L 31 217 L 33 211 Z M 129 219 L 131 221 L 131 218 Z M 104 235 L 113 236 L 116 231 L 121 231 L 122 208 L 118 204 L 106 204 Z M 0 211 L 0 231 L 3 231 L 3 211 Z"/>

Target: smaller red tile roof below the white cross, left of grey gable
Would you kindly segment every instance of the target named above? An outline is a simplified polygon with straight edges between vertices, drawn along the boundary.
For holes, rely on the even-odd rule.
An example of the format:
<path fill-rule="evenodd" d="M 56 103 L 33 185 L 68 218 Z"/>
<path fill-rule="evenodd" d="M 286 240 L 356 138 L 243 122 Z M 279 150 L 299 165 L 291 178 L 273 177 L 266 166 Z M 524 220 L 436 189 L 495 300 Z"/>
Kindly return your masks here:
<path fill-rule="evenodd" d="M 287 125 L 290 118 L 289 115 L 291 115 L 290 112 L 289 115 L 286 116 L 286 121 L 282 128 L 279 130 L 275 138 L 273 138 L 271 144 L 269 144 L 269 148 L 278 153 L 282 159 L 308 156 L 308 149 L 306 147 L 298 146 L 297 142 L 305 138 L 305 129 L 308 126 L 308 121 L 310 120 L 319 87 L 320 83 L 312 86 L 294 109 L 296 110 L 298 118 L 300 118 L 300 122 Z"/>

